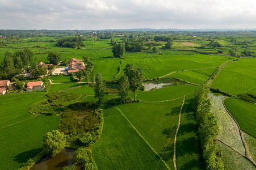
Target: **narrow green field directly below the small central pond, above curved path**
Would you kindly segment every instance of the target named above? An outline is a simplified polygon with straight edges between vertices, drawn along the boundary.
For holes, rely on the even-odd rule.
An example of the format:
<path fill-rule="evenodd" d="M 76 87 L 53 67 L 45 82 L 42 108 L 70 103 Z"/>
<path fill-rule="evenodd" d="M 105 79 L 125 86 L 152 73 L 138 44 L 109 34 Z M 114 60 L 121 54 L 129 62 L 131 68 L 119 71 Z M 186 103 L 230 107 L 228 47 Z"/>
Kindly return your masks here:
<path fill-rule="evenodd" d="M 196 90 L 196 86 L 181 85 L 181 86 L 163 87 L 153 91 L 145 91 L 145 92 L 138 91 L 136 100 L 164 101 L 164 100 L 177 99 L 184 95 L 190 94 L 195 90 Z M 133 93 L 130 93 L 129 96 L 134 98 Z"/>

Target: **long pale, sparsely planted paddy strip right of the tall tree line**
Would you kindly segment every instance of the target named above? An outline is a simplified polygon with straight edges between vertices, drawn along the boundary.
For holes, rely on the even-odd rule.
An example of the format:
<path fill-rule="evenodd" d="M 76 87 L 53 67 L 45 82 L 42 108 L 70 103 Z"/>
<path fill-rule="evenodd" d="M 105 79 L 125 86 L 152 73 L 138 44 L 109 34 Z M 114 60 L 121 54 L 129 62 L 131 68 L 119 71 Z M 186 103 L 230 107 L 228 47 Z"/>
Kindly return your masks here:
<path fill-rule="evenodd" d="M 240 154 L 244 155 L 245 147 L 242 143 L 238 126 L 233 118 L 229 116 L 228 112 L 226 112 L 223 105 L 223 99 L 225 96 L 217 96 L 210 93 L 208 97 L 211 99 L 212 112 L 218 120 L 218 126 L 220 129 L 217 138 L 234 148 L 234 150 L 240 152 Z"/>

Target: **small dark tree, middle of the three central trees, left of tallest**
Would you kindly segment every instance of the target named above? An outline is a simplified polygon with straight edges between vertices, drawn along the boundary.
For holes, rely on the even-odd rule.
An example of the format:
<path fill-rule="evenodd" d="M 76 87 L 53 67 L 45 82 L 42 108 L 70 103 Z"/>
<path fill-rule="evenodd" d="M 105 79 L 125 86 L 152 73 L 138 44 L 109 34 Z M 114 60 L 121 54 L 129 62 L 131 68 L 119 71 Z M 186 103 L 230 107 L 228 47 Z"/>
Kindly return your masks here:
<path fill-rule="evenodd" d="M 118 95 L 120 96 L 122 101 L 126 101 L 129 96 L 129 80 L 128 77 L 123 75 L 119 80 L 119 84 L 117 89 L 119 90 Z"/>

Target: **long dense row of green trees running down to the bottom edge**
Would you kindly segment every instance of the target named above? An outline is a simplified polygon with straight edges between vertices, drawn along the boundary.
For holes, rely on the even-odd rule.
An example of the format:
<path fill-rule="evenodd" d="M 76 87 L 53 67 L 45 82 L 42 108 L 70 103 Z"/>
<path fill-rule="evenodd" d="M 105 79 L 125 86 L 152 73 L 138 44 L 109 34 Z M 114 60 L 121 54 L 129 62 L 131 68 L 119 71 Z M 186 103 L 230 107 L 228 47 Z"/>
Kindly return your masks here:
<path fill-rule="evenodd" d="M 203 150 L 206 169 L 224 169 L 221 163 L 221 152 L 217 148 L 219 126 L 211 112 L 211 100 L 206 99 L 209 90 L 202 86 L 195 97 L 195 114 L 199 125 L 199 139 Z"/>

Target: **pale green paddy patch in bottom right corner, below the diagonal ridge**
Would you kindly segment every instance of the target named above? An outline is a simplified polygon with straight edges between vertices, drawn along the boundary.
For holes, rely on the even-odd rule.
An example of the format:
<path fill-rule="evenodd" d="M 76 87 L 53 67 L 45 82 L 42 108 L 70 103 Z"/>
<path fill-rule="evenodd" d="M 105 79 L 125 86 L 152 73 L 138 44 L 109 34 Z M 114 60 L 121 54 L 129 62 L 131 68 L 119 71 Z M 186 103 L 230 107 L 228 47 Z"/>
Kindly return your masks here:
<path fill-rule="evenodd" d="M 254 165 L 244 158 L 244 156 L 233 151 L 228 146 L 221 142 L 217 142 L 218 148 L 222 150 L 221 160 L 224 164 L 225 169 L 230 170 L 241 170 L 241 169 L 256 169 Z"/>

